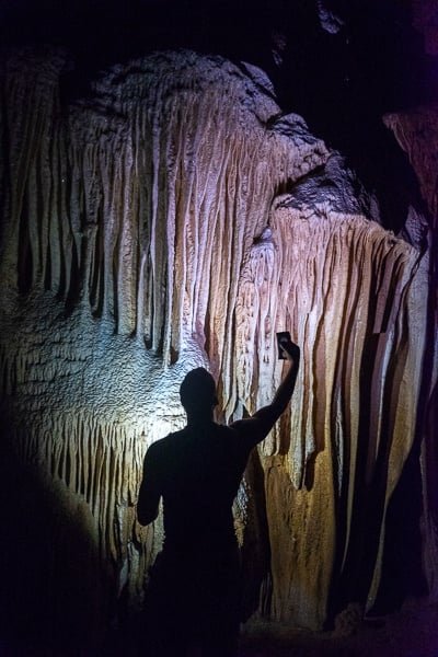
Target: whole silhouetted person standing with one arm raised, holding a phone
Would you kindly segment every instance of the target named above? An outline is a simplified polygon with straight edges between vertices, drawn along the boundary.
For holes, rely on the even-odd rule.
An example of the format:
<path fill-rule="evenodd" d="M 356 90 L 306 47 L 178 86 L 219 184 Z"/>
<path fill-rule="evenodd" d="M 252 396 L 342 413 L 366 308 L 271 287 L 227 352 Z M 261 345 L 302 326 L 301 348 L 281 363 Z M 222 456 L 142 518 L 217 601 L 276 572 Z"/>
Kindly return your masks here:
<path fill-rule="evenodd" d="M 284 351 L 289 368 L 272 404 L 230 426 L 214 422 L 211 374 L 204 368 L 188 372 L 180 389 L 187 426 L 147 451 L 138 519 L 152 522 L 162 497 L 165 534 L 147 591 L 143 632 L 150 656 L 180 657 L 194 645 L 196 655 L 234 654 L 240 565 L 232 504 L 251 450 L 292 395 L 300 351 L 292 343 Z"/>

